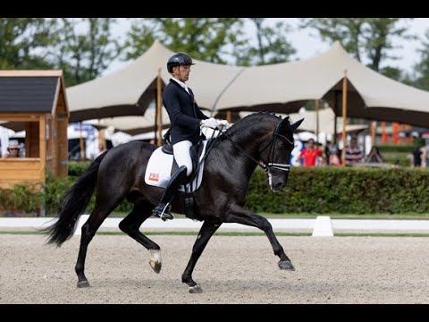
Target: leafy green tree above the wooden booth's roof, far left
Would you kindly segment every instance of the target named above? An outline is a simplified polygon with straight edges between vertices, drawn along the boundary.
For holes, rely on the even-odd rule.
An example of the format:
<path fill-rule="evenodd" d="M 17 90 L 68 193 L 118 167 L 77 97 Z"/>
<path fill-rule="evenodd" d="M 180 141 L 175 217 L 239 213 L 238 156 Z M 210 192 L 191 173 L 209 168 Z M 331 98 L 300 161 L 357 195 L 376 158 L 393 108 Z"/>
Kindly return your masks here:
<path fill-rule="evenodd" d="M 54 19 L 0 18 L 0 69 L 52 68 L 46 56 L 55 24 Z"/>

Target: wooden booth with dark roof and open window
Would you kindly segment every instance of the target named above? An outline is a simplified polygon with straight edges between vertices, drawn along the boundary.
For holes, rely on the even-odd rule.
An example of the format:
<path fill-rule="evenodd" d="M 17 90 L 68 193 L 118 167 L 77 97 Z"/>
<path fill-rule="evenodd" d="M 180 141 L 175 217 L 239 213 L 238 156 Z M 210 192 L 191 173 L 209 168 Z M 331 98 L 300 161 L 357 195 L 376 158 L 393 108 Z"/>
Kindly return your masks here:
<path fill-rule="evenodd" d="M 0 157 L 0 188 L 66 176 L 68 123 L 62 71 L 0 71 L 0 125 L 25 130 L 25 156 Z"/>

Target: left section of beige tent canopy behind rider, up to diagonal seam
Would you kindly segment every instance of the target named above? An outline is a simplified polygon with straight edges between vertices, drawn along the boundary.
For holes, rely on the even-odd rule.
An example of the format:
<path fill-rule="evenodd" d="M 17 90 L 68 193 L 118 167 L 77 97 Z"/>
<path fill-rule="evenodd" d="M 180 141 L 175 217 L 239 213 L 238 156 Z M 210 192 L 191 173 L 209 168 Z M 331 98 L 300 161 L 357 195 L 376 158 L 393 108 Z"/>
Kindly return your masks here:
<path fill-rule="evenodd" d="M 158 70 L 161 70 L 163 86 L 171 78 L 166 63 L 173 54 L 156 41 L 145 54 L 122 70 L 68 88 L 71 122 L 145 114 L 149 103 L 156 98 Z M 241 68 L 193 62 L 196 67 L 187 84 L 196 93 L 198 106 L 208 109 Z"/>

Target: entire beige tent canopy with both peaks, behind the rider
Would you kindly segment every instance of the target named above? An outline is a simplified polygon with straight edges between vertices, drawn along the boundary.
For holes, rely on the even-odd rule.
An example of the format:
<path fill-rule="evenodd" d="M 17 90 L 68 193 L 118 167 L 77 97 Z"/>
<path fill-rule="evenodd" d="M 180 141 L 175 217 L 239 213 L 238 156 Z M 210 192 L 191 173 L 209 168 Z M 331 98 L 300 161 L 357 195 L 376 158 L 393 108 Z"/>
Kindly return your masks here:
<path fill-rule="evenodd" d="M 170 79 L 165 65 L 171 55 L 156 41 L 122 70 L 67 89 L 71 122 L 145 114 L 156 98 L 158 70 L 163 86 Z M 429 92 L 372 71 L 339 42 L 322 55 L 298 62 L 253 67 L 194 63 L 187 83 L 198 106 L 214 114 L 227 110 L 294 113 L 308 100 L 325 99 L 341 115 L 347 70 L 348 116 L 429 126 Z"/>

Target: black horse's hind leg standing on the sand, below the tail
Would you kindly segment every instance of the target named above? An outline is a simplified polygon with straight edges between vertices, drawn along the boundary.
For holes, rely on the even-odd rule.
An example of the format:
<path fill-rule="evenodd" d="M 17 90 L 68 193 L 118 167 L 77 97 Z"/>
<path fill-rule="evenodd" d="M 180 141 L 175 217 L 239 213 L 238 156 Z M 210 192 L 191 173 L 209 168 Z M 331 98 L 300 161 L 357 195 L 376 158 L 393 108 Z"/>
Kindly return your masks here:
<path fill-rule="evenodd" d="M 78 287 L 89 287 L 88 279 L 85 276 L 85 258 L 87 257 L 88 244 L 92 241 L 98 228 L 105 221 L 105 218 L 116 208 L 121 202 L 122 198 L 116 197 L 114 199 L 103 198 L 103 200 L 96 199 L 96 207 L 91 215 L 88 217 L 87 222 L 82 225 L 82 234 L 80 236 L 80 248 L 78 261 L 74 270 L 78 275 Z"/>

